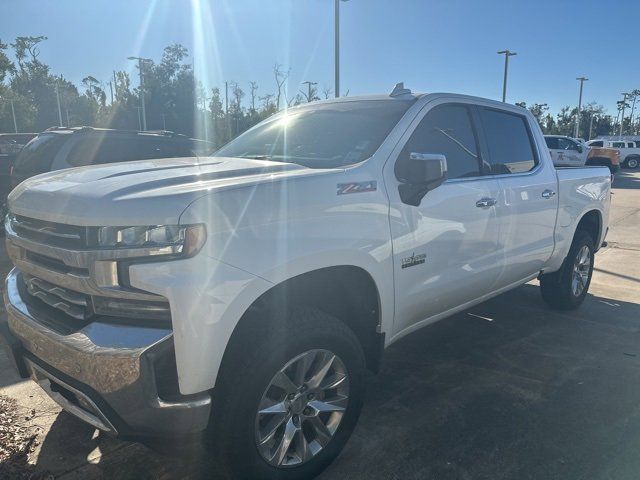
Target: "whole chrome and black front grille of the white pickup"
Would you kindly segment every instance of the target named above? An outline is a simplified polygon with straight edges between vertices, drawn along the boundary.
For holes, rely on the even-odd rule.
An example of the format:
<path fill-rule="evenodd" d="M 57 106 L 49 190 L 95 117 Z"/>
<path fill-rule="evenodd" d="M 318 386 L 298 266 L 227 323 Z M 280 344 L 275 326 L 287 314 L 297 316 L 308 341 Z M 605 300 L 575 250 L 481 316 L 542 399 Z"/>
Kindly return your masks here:
<path fill-rule="evenodd" d="M 9 217 L 8 227 L 7 253 L 20 270 L 21 296 L 59 330 L 98 319 L 170 328 L 168 300 L 123 286 L 126 265 L 91 246 L 92 229 L 19 215 Z"/>

